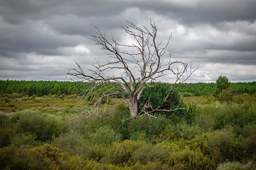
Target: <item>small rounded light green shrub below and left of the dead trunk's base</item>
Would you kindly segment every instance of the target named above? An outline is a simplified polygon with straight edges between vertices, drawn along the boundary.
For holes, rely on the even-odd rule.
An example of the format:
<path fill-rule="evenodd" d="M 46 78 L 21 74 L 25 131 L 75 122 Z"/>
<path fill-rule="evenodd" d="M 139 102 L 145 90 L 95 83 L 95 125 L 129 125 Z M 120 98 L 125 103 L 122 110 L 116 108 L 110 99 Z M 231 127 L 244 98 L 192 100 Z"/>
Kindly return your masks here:
<path fill-rule="evenodd" d="M 109 146 L 113 142 L 118 142 L 119 139 L 120 134 L 115 132 L 110 126 L 101 126 L 95 133 L 90 134 L 92 143 L 98 143 L 103 146 Z"/>

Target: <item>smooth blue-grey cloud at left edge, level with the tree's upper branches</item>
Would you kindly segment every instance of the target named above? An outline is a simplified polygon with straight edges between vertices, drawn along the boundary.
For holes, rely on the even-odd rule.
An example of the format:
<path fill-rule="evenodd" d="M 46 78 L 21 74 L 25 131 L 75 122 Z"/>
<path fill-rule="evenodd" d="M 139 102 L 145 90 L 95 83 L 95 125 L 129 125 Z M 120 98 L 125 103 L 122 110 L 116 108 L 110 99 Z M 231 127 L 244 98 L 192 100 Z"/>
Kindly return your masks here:
<path fill-rule="evenodd" d="M 63 36 L 53 32 L 42 23 L 32 22 L 7 30 L 0 30 L 0 54 L 13 52 L 43 52 L 65 46 L 73 46 L 84 41 L 79 36 Z M 10 55 L 9 55 L 10 56 Z"/>

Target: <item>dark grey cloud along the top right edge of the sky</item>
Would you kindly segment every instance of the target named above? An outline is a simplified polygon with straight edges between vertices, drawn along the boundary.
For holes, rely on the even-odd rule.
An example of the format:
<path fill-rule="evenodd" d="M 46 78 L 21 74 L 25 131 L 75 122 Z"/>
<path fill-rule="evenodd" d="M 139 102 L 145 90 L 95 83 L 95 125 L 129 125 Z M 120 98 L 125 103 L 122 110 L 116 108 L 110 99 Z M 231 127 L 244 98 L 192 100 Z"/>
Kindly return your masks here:
<path fill-rule="evenodd" d="M 138 6 L 152 10 L 183 24 L 218 23 L 222 21 L 247 20 L 254 22 L 256 1 L 150 1 L 138 3 Z"/>

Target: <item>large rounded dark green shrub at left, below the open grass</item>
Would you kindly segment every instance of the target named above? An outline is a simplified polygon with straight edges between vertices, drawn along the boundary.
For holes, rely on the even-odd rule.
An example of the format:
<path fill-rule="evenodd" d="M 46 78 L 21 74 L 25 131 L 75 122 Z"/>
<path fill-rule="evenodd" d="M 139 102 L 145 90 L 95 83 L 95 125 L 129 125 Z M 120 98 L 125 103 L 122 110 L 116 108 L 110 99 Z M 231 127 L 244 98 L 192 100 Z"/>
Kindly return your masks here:
<path fill-rule="evenodd" d="M 16 122 L 16 133 L 35 134 L 39 141 L 51 140 L 53 135 L 59 136 L 65 126 L 57 117 L 30 110 L 15 113 L 11 120 Z"/>

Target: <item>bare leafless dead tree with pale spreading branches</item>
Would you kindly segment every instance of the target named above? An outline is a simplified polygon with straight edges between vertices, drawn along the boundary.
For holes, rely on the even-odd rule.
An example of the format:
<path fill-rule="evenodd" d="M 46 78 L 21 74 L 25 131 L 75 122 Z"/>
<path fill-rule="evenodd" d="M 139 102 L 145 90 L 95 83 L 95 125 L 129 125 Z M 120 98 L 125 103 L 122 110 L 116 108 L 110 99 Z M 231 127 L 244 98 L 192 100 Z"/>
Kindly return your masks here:
<path fill-rule="evenodd" d="M 161 109 L 161 105 L 156 108 L 151 108 L 151 111 L 146 111 L 146 108 L 151 107 L 150 102 L 143 104 L 143 109 L 138 113 L 139 98 L 143 88 L 148 82 L 163 79 L 163 76 L 172 75 L 175 80 L 170 86 L 173 90 L 182 86 L 182 84 L 197 70 L 191 68 L 191 62 L 172 61 L 172 50 L 167 49 L 171 36 L 165 44 L 158 41 L 155 23 L 150 23 L 150 28 L 137 27 L 132 22 L 127 22 L 128 25 L 123 26 L 124 31 L 133 38 L 133 42 L 129 44 L 121 44 L 113 39 L 106 39 L 104 33 L 101 33 L 97 28 L 96 35 L 92 35 L 91 40 L 100 45 L 102 50 L 105 50 L 109 59 L 105 63 L 97 61 L 93 65 L 94 69 L 89 70 L 90 74 L 86 74 L 81 66 L 76 62 L 78 69 L 70 69 L 67 75 L 75 76 L 80 80 L 80 86 L 84 86 L 85 90 L 80 95 L 84 99 L 93 102 L 88 112 L 82 116 L 90 116 L 94 114 L 99 116 L 98 108 L 103 99 L 108 103 L 110 96 L 119 95 L 129 105 L 131 118 L 136 118 L 141 114 L 147 114 L 150 117 L 155 117 L 152 112 L 156 111 L 173 111 L 170 108 Z M 125 95 L 126 94 L 126 95 Z M 129 97 L 127 97 L 127 95 Z M 76 117 L 74 117 L 76 118 Z"/>

